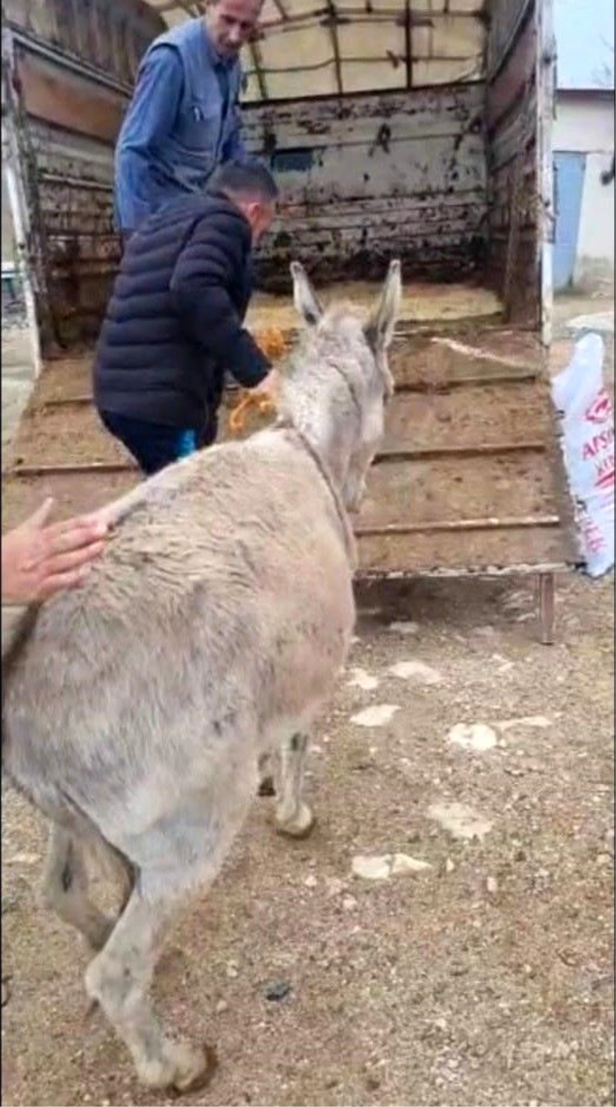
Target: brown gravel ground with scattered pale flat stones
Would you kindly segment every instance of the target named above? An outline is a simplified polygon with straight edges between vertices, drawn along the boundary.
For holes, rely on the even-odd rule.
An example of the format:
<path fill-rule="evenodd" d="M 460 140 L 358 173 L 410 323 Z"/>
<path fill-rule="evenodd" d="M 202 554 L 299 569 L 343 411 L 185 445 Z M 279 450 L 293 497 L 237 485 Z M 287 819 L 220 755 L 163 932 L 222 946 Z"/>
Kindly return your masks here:
<path fill-rule="evenodd" d="M 220 1059 L 191 1103 L 612 1103 L 613 578 L 556 597 L 547 648 L 530 582 L 362 596 L 313 837 L 281 840 L 255 800 L 160 963 L 161 1011 Z M 85 951 L 38 902 L 42 820 L 12 792 L 2 815 L 4 1104 L 171 1103 L 86 1018 Z M 429 868 L 391 875 L 396 855 Z"/>

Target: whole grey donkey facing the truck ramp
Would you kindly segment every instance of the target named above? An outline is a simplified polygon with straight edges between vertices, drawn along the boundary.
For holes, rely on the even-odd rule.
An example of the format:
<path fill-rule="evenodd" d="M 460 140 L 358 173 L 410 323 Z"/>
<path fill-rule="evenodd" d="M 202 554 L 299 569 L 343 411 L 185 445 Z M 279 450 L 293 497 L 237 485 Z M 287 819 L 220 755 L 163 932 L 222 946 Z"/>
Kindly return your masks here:
<path fill-rule="evenodd" d="M 3 661 L 3 766 L 52 823 L 45 900 L 97 951 L 87 994 L 154 1088 L 202 1087 L 215 1065 L 154 1015 L 164 934 L 219 872 L 269 754 L 279 830 L 310 831 L 307 736 L 355 619 L 346 510 L 393 391 L 400 266 L 367 320 L 323 312 L 292 276 L 307 331 L 278 423 L 111 505 L 84 587 L 46 602 Z M 88 899 L 93 855 L 123 882 L 117 919 Z"/>

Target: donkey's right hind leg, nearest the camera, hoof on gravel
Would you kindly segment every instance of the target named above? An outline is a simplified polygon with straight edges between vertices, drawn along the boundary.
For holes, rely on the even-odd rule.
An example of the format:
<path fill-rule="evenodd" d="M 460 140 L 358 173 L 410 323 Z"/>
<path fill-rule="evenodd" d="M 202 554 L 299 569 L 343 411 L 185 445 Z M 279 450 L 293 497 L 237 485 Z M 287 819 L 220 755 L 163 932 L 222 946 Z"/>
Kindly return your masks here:
<path fill-rule="evenodd" d="M 203 892 L 211 886 L 254 798 L 257 765 L 250 766 L 247 745 L 229 747 L 223 778 L 182 796 L 180 809 L 126 846 L 138 879 L 107 944 L 85 974 L 87 994 L 103 1008 L 130 1051 L 139 1078 L 152 1088 L 201 1088 L 216 1067 L 211 1051 L 166 1034 L 148 989 L 173 915 L 197 888 Z"/>

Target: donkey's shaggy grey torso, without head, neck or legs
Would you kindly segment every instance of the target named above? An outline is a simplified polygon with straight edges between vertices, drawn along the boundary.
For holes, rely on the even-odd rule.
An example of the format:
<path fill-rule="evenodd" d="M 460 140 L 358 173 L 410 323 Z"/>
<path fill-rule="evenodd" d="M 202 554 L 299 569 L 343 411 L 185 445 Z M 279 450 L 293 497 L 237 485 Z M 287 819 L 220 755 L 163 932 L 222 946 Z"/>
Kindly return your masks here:
<path fill-rule="evenodd" d="M 220 783 L 240 733 L 254 774 L 327 695 L 354 618 L 344 519 L 292 432 L 167 473 L 83 589 L 44 606 L 4 689 L 9 774 L 118 849 L 169 794 Z"/>

